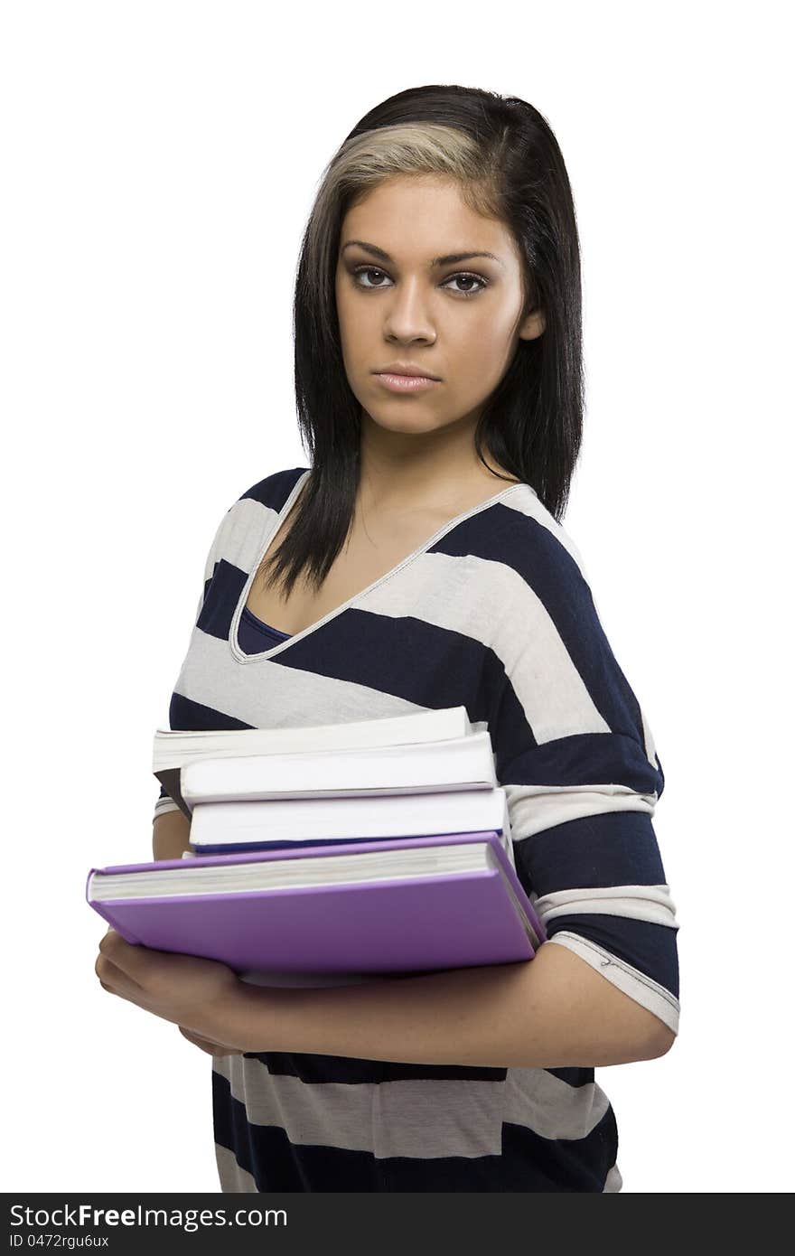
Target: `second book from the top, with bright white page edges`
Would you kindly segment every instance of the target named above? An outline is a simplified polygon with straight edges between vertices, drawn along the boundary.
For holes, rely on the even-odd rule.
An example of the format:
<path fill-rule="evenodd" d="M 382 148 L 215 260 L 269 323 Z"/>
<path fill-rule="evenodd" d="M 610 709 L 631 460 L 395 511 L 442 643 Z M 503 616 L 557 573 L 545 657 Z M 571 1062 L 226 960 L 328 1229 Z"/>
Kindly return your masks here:
<path fill-rule="evenodd" d="M 293 755 L 197 759 L 181 771 L 185 803 L 257 801 L 274 798 L 334 798 L 494 789 L 497 777 L 491 737 L 421 745 L 368 746 Z"/>

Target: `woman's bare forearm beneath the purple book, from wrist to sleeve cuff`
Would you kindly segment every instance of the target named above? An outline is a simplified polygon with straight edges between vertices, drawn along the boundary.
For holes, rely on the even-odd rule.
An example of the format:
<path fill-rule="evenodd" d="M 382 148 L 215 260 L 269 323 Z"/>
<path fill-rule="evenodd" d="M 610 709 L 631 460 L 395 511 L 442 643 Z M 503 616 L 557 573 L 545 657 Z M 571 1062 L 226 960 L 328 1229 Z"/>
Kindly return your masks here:
<path fill-rule="evenodd" d="M 240 982 L 210 1036 L 242 1051 L 565 1068 L 656 1059 L 674 1035 L 566 947 L 520 963 L 337 987 Z"/>

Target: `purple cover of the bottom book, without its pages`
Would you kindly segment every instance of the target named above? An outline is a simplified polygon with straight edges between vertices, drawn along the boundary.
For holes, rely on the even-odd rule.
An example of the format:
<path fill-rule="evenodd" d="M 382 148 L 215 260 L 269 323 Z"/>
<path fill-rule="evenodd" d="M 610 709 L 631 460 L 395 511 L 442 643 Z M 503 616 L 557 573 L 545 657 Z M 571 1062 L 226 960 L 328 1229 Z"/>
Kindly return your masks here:
<path fill-rule="evenodd" d="M 511 963 L 533 958 L 536 947 L 520 918 L 500 872 L 443 873 L 393 878 L 370 884 L 232 891 L 142 897 L 89 898 L 93 873 L 134 873 L 210 864 L 251 864 L 269 859 L 311 859 L 323 854 L 363 854 L 417 845 L 487 842 L 531 929 L 544 928 L 511 867 L 496 833 L 387 838 L 374 842 L 300 847 L 295 850 L 249 850 L 156 863 L 92 868 L 85 898 L 127 942 L 157 951 L 220 960 L 236 972 L 250 968 L 283 972 L 406 972 Z"/>

